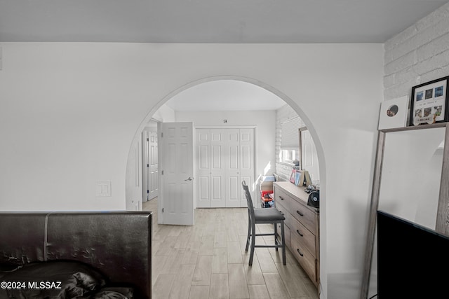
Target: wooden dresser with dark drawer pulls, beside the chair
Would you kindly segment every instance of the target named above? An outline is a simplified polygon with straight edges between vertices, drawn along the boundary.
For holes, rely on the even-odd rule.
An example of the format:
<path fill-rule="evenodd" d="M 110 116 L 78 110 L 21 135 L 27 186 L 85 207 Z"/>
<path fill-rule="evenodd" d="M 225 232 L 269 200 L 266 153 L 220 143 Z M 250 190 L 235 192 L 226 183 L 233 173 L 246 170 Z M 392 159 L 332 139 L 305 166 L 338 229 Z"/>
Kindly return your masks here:
<path fill-rule="evenodd" d="M 274 182 L 274 205 L 286 217 L 287 248 L 318 287 L 320 214 L 319 209 L 307 205 L 309 194 L 304 189 L 289 181 Z M 281 232 L 280 227 L 278 232 Z"/>

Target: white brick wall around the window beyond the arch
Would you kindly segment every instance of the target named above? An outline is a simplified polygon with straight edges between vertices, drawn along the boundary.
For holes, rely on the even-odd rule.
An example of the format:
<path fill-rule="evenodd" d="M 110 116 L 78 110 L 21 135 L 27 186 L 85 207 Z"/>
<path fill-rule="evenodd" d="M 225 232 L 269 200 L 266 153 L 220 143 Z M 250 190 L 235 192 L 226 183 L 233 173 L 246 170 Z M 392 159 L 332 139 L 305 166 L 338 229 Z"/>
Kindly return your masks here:
<path fill-rule="evenodd" d="M 292 165 L 279 162 L 279 153 L 281 151 L 281 124 L 286 120 L 297 117 L 297 113 L 289 106 L 284 105 L 276 110 L 276 174 L 279 179 L 288 180 L 292 172 Z"/>

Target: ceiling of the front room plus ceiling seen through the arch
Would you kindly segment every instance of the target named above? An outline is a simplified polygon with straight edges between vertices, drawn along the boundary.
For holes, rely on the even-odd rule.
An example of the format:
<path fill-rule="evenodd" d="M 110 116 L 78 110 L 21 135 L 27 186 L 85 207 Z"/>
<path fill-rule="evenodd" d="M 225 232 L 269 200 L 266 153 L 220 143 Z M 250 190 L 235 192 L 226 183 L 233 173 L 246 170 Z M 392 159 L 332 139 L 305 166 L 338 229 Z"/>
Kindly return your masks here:
<path fill-rule="evenodd" d="M 0 0 L 0 42 L 384 43 L 447 2 Z M 199 111 L 271 110 L 285 103 L 250 83 L 217 81 L 167 104 Z"/>

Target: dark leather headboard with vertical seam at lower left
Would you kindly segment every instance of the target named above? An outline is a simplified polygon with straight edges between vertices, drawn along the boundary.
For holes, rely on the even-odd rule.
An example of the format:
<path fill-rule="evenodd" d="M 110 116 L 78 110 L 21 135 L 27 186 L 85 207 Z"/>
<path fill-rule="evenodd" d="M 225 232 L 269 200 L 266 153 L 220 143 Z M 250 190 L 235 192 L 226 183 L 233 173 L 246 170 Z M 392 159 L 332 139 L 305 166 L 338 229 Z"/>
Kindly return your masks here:
<path fill-rule="evenodd" d="M 86 263 L 152 298 L 152 212 L 0 212 L 0 281 L 52 260 Z"/>

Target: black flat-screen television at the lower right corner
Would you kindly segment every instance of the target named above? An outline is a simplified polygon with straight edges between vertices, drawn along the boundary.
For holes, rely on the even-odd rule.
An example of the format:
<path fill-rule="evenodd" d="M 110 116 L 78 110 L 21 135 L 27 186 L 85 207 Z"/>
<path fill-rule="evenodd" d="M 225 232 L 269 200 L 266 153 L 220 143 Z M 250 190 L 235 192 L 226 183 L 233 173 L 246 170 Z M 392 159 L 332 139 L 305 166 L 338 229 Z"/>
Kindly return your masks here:
<path fill-rule="evenodd" d="M 449 298 L 449 237 L 377 211 L 377 298 Z"/>

